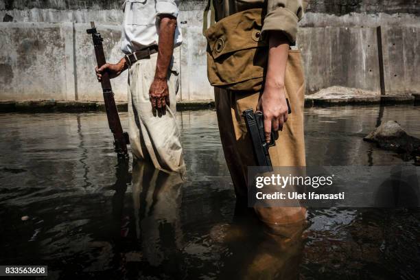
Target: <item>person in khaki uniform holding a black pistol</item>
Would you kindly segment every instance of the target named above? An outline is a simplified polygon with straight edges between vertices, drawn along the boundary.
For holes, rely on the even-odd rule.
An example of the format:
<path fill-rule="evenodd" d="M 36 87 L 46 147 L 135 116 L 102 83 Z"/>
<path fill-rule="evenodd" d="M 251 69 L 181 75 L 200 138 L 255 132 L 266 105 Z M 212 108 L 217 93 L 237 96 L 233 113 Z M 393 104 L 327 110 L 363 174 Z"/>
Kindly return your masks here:
<path fill-rule="evenodd" d="M 215 87 L 215 106 L 224 156 L 237 198 L 245 201 L 247 167 L 256 163 L 242 117 L 244 110 L 257 108 L 264 113 L 267 140 L 270 139 L 271 130 L 279 130 L 276 145 L 270 148 L 272 166 L 305 166 L 304 80 L 300 53 L 290 50 L 290 45 L 296 41 L 298 21 L 307 3 L 302 0 L 213 0 L 213 5 L 215 21 L 253 8 L 262 8 L 266 12 L 261 30 L 269 40 L 264 90 L 261 93 L 246 93 Z M 290 115 L 286 96 L 292 108 Z M 270 229 L 283 235 L 296 233 L 305 223 L 306 211 L 302 207 L 255 208 L 255 211 Z"/>

